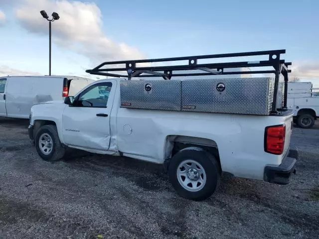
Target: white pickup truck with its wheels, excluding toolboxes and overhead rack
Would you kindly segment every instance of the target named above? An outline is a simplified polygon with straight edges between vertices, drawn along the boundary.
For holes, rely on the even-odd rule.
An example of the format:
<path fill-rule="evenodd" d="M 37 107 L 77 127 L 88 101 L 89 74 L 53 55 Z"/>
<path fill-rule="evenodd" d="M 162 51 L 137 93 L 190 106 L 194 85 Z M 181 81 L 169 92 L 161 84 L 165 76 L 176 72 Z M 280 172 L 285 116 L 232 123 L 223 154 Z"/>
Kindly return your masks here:
<path fill-rule="evenodd" d="M 28 131 L 40 157 L 58 160 L 72 147 L 164 164 L 178 194 L 192 200 L 209 197 L 222 172 L 279 184 L 295 172 L 291 110 L 245 115 L 127 109 L 131 103 L 121 99 L 126 82 L 144 81 L 99 80 L 64 102 L 34 105 Z"/>

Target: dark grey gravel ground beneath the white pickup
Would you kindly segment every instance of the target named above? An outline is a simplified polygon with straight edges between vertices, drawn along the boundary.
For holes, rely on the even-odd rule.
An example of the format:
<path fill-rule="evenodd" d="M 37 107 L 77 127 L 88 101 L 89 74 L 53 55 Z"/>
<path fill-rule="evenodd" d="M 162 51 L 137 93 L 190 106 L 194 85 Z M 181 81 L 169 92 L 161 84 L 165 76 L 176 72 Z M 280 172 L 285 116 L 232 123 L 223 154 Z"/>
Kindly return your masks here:
<path fill-rule="evenodd" d="M 0 239 L 318 238 L 318 129 L 294 128 L 300 159 L 289 185 L 224 176 L 193 202 L 160 165 L 80 151 L 45 162 L 27 125 L 0 119 Z"/>

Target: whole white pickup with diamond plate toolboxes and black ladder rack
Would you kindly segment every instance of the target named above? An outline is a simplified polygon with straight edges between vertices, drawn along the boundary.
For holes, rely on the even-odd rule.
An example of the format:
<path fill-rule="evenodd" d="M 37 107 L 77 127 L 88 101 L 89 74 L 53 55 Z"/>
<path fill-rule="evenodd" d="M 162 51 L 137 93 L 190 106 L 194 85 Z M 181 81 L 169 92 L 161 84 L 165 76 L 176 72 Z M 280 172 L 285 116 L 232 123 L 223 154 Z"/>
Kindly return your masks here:
<path fill-rule="evenodd" d="M 240 55 L 275 54 L 284 64 L 279 60 L 281 53 L 283 50 Z M 204 73 L 200 74 L 223 74 L 223 68 L 236 64 L 202 66 L 196 61 L 229 55 L 103 63 L 87 72 L 122 77 L 102 67 L 125 63 L 126 68 L 113 71 L 126 70 L 129 79 L 162 74 L 166 80 L 104 79 L 64 102 L 35 105 L 31 108 L 29 137 L 40 157 L 48 161 L 62 158 L 65 148 L 71 147 L 163 164 L 178 194 L 192 200 L 209 197 L 217 189 L 222 172 L 287 184 L 296 171 L 298 153 L 290 148 L 293 112 L 272 104 L 276 102 L 276 81 L 170 79 L 173 70 L 201 68 Z M 138 67 L 138 63 L 180 59 L 189 60 L 189 64 Z M 274 62 L 270 59 L 261 66 Z M 259 66 L 238 62 L 238 67 L 251 64 Z M 193 76 L 188 74 L 175 75 Z M 278 87 L 279 77 L 276 80 Z M 257 88 L 249 90 L 254 86 Z M 254 103 L 254 99 L 259 101 Z"/>

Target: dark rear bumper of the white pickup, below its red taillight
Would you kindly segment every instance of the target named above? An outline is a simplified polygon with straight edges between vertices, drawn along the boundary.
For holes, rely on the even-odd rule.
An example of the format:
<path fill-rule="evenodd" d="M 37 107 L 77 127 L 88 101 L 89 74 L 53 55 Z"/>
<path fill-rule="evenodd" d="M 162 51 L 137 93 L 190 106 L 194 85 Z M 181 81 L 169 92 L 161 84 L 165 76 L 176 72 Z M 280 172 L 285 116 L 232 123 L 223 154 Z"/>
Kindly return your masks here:
<path fill-rule="evenodd" d="M 279 166 L 266 166 L 264 180 L 276 184 L 288 184 L 292 173 L 296 173 L 298 151 L 291 148 Z"/>

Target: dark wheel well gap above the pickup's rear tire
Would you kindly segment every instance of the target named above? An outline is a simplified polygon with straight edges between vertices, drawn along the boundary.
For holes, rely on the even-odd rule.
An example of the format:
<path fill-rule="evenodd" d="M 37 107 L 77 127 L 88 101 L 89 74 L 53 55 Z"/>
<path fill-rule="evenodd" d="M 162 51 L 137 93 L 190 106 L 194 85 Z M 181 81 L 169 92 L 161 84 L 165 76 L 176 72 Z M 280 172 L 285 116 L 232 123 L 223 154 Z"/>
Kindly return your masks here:
<path fill-rule="evenodd" d="M 188 147 L 200 147 L 205 151 L 211 153 L 218 161 L 219 170 L 222 171 L 217 143 L 211 139 L 181 135 L 169 135 L 166 137 L 165 158 L 171 158 L 179 150 Z"/>

